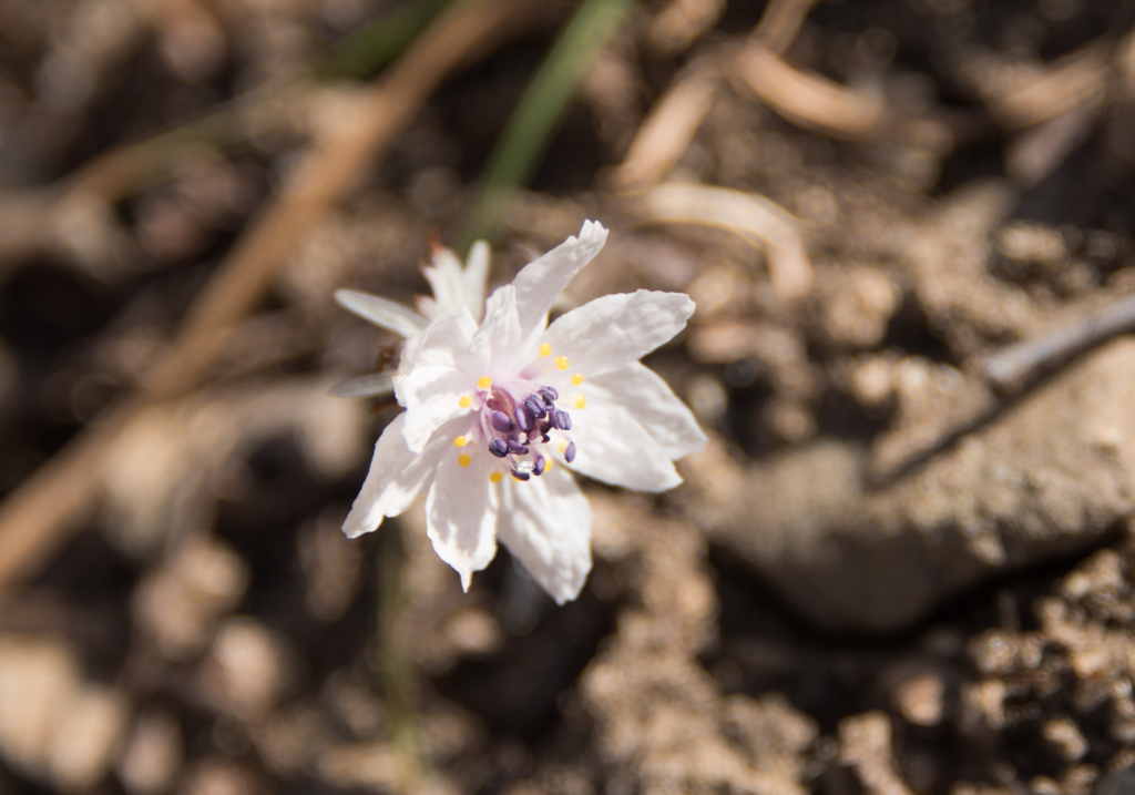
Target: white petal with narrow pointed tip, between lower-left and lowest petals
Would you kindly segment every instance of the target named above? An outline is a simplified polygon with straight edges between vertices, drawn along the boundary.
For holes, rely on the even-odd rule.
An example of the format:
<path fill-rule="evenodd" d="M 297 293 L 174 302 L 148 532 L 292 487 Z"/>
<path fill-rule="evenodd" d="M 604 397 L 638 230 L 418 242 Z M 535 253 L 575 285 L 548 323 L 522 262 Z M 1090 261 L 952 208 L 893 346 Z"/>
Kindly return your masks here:
<path fill-rule="evenodd" d="M 489 483 L 493 459 L 487 451 L 474 452 L 468 467 L 460 466 L 459 454 L 453 449 L 442 457 L 426 499 L 426 527 L 438 556 L 457 570 L 469 591 L 473 572 L 496 554 L 498 486 Z"/>

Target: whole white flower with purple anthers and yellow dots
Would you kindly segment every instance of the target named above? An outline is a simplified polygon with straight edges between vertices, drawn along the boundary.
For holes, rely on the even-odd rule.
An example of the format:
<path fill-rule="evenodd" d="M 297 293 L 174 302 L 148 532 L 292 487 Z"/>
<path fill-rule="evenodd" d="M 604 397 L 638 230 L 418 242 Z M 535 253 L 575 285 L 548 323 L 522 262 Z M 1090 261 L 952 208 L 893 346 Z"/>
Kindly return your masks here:
<path fill-rule="evenodd" d="M 428 489 L 429 537 L 465 589 L 499 538 L 563 603 L 579 595 L 591 568 L 591 511 L 566 467 L 648 492 L 681 483 L 672 461 L 706 437 L 638 360 L 686 326 L 689 296 L 606 295 L 547 325 L 556 296 L 606 237 L 602 225 L 586 223 L 578 238 L 496 290 L 479 327 L 474 304 L 484 292 L 470 282 L 480 278 L 484 291 L 487 249 L 485 265 L 476 259 L 472 267 L 471 256 L 464 271 L 455 258 L 440 268 L 435 257 L 437 311 L 428 325 L 398 304 L 340 291 L 350 309 L 410 337 L 393 378 L 406 411 L 375 446 L 343 525 L 348 536 L 377 529 Z M 380 303 L 364 311 L 360 295 Z"/>

